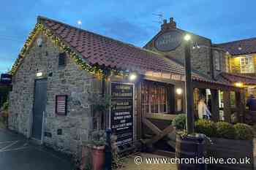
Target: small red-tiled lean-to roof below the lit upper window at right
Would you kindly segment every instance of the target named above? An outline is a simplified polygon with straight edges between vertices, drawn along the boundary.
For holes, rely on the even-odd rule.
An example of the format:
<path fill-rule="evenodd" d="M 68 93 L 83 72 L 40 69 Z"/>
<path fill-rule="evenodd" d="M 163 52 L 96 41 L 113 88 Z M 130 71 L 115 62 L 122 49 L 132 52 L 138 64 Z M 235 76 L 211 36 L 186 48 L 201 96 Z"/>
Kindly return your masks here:
<path fill-rule="evenodd" d="M 230 84 L 234 84 L 235 82 L 243 82 L 244 85 L 256 84 L 255 77 L 244 76 L 241 74 L 224 73 L 224 72 L 220 74 L 220 76 L 223 77 L 228 82 L 230 82 Z"/>

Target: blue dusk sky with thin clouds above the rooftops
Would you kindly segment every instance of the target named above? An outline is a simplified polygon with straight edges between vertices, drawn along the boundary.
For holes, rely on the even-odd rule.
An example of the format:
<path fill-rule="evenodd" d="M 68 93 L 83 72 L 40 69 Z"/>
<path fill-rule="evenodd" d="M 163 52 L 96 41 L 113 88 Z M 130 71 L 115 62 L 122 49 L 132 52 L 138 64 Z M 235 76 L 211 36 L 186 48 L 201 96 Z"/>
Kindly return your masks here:
<path fill-rule="evenodd" d="M 11 68 L 37 15 L 73 26 L 82 20 L 83 29 L 142 47 L 159 31 L 160 13 L 214 43 L 255 37 L 255 7 L 255 0 L 1 1 L 0 72 Z"/>

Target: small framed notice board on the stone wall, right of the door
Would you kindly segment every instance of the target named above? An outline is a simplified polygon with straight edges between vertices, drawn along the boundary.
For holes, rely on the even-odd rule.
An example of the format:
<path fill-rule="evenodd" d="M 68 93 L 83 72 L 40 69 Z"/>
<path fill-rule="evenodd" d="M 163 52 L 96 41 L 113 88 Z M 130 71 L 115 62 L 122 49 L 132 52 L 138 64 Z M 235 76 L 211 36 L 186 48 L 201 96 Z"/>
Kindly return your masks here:
<path fill-rule="evenodd" d="M 67 115 L 67 95 L 56 96 L 56 115 Z"/>

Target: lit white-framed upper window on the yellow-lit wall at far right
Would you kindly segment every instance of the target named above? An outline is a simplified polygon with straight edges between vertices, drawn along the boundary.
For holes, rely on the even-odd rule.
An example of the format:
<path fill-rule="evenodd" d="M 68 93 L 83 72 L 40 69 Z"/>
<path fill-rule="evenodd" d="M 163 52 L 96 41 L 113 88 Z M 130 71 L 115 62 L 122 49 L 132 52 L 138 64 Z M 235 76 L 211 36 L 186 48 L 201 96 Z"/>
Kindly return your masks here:
<path fill-rule="evenodd" d="M 241 73 L 254 73 L 255 68 L 252 55 L 246 55 L 240 59 Z"/>

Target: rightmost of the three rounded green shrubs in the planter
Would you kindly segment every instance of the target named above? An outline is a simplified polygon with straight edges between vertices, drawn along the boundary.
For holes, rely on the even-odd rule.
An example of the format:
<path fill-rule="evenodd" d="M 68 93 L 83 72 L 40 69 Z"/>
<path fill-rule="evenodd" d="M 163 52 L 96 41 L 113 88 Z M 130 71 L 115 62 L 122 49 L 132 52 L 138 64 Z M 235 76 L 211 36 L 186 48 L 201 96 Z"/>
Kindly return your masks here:
<path fill-rule="evenodd" d="M 234 125 L 236 131 L 236 139 L 239 140 L 252 140 L 254 137 L 254 131 L 251 126 L 244 123 L 237 123 Z"/>

